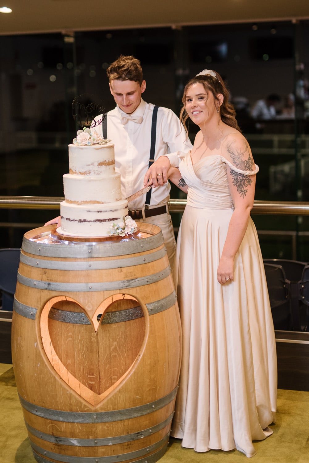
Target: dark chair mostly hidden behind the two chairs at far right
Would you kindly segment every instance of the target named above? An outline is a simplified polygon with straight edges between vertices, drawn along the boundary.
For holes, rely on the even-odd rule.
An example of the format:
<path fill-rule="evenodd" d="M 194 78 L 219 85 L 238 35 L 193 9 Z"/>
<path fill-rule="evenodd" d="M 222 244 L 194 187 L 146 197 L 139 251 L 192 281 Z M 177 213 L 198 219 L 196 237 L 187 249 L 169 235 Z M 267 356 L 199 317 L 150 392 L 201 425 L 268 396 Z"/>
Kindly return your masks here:
<path fill-rule="evenodd" d="M 283 267 L 290 292 L 291 330 L 304 331 L 308 325 L 305 319 L 307 308 L 299 298 L 298 282 L 302 279 L 307 263 L 289 259 L 264 259 L 264 262 Z"/>

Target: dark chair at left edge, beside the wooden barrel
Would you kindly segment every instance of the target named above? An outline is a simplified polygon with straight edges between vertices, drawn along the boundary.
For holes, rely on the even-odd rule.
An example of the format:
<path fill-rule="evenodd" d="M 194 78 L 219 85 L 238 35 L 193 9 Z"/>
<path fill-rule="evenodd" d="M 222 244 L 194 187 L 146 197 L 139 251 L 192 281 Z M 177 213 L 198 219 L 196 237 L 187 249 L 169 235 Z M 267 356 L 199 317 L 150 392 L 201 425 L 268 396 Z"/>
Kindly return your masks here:
<path fill-rule="evenodd" d="M 13 310 L 19 257 L 19 248 L 0 249 L 0 291 L 2 294 L 2 310 Z"/>

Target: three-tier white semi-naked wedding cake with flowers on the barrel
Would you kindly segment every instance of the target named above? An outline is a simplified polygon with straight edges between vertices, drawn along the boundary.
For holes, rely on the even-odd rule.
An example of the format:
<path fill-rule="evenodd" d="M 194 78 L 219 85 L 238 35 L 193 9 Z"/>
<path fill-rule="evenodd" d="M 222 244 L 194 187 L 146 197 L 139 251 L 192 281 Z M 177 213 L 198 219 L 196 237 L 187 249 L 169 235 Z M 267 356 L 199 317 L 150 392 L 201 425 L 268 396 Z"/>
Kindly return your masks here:
<path fill-rule="evenodd" d="M 128 202 L 121 199 L 111 140 L 90 129 L 77 132 L 73 144 L 69 144 L 69 174 L 63 175 L 63 190 L 59 233 L 104 237 L 125 228 Z"/>

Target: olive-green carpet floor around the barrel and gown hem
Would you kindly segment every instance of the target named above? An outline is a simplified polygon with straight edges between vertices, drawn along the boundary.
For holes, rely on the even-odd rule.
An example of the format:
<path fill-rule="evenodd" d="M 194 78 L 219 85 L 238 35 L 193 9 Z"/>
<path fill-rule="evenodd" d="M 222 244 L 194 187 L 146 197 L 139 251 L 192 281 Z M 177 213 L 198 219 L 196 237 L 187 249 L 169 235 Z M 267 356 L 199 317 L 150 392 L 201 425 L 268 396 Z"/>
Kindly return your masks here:
<path fill-rule="evenodd" d="M 12 365 L 0 363 L 0 463 L 35 463 L 19 403 Z M 309 462 L 309 392 L 278 390 L 277 423 L 273 434 L 255 442 L 254 463 Z M 238 463 L 248 461 L 237 450 L 197 453 L 170 444 L 160 463 Z"/>

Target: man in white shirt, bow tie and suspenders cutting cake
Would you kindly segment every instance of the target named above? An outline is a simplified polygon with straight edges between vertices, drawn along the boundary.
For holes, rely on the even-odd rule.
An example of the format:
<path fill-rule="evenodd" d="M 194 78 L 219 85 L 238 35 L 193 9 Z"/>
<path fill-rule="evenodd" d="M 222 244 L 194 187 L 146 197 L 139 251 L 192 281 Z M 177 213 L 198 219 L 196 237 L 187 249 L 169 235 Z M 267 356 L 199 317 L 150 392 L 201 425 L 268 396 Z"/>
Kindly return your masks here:
<path fill-rule="evenodd" d="M 173 111 L 161 106 L 156 109 L 142 99 L 146 82 L 138 59 L 120 56 L 108 67 L 107 76 L 117 106 L 107 113 L 103 124 L 102 114 L 97 116 L 91 130 L 103 133 L 104 138 L 110 138 L 115 145 L 115 166 L 121 176 L 122 198 L 144 187 L 144 177 L 150 168 L 153 183 L 160 188 L 153 188 L 150 194 L 131 201 L 129 214 L 133 219 L 161 228 L 173 268 L 176 242 L 168 211 L 170 183 L 164 183 L 166 169 L 162 161 L 154 167 L 151 165 L 159 156 L 189 151 L 192 144 Z"/>

